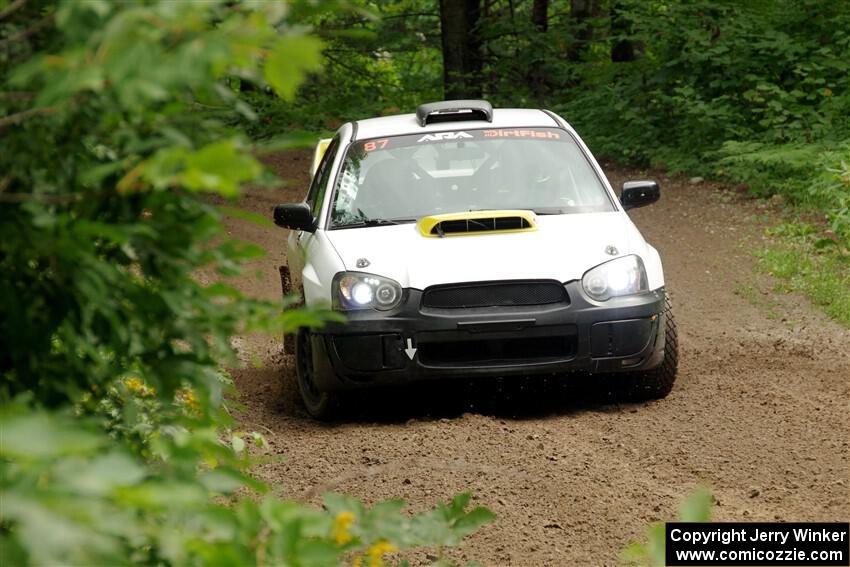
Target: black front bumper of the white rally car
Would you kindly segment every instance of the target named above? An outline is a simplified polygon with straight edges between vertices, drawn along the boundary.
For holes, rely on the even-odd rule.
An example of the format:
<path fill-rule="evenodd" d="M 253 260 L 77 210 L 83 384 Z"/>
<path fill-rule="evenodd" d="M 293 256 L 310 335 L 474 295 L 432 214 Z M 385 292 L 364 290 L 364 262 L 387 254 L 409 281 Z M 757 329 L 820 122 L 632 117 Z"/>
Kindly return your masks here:
<path fill-rule="evenodd" d="M 422 292 L 405 290 L 392 311 L 352 312 L 345 323 L 315 331 L 315 380 L 332 390 L 428 378 L 610 373 L 661 363 L 663 288 L 604 303 L 590 301 L 580 282 L 566 289 L 568 303 L 461 309 L 422 307 Z"/>

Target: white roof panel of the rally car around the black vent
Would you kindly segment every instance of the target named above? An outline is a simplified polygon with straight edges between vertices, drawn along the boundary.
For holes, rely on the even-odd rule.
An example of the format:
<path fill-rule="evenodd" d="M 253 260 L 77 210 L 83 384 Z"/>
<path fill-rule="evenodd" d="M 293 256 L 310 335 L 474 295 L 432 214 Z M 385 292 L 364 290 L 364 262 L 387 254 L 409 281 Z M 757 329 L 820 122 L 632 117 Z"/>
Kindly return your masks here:
<path fill-rule="evenodd" d="M 531 108 L 496 108 L 493 121 L 458 120 L 435 122 L 420 126 L 415 114 L 397 114 L 380 118 L 367 118 L 355 123 L 354 140 L 380 138 L 381 136 L 402 136 L 420 132 L 445 132 L 447 130 L 473 130 L 476 128 L 559 128 L 561 125 L 553 115 Z"/>

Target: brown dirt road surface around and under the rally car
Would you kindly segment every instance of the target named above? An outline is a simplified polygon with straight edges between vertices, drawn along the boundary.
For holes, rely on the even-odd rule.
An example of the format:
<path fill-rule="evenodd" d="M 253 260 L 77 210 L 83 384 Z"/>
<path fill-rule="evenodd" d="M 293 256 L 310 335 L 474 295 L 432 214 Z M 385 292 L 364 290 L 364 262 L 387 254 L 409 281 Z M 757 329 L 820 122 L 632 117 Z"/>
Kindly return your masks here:
<path fill-rule="evenodd" d="M 250 190 L 242 206 L 268 215 L 303 198 L 309 157 L 270 157 L 289 185 Z M 627 174 L 647 175 L 609 178 L 618 187 Z M 798 296 L 765 291 L 751 249 L 766 204 L 655 177 L 661 201 L 633 218 L 661 252 L 679 324 L 668 398 L 616 403 L 588 379 L 431 384 L 367 394 L 345 421 L 322 424 L 300 405 L 279 341 L 244 337 L 245 358 L 265 366 L 235 372 L 243 428 L 285 457 L 257 474 L 317 504 L 336 490 L 424 510 L 471 490 L 498 518 L 446 557 L 492 566 L 616 565 L 697 485 L 712 489 L 717 520 L 850 519 L 850 332 Z M 279 298 L 286 231 L 228 228 L 269 251 L 237 285 Z"/>

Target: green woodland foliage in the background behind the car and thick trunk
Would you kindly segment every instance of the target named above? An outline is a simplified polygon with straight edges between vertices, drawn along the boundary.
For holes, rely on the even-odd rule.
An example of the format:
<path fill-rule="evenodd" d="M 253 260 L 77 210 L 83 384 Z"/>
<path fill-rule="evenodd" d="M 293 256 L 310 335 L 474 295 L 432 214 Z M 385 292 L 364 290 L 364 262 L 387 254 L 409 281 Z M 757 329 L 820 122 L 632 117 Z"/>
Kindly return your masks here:
<path fill-rule="evenodd" d="M 327 72 L 311 77 L 297 105 L 243 93 L 261 116 L 252 136 L 273 136 L 281 125 L 333 130 L 440 98 L 439 3 L 358 5 L 370 12 L 304 16 L 325 41 Z M 550 2 L 542 31 L 530 0 L 486 3 L 475 33 L 487 98 L 558 110 L 595 153 L 622 164 L 700 175 L 727 169 L 736 182 L 746 182 L 734 175 L 740 170 L 719 166 L 735 144 L 847 146 L 848 0 L 603 0 L 585 19 L 571 9 Z M 623 43 L 632 60 L 613 57 Z"/>

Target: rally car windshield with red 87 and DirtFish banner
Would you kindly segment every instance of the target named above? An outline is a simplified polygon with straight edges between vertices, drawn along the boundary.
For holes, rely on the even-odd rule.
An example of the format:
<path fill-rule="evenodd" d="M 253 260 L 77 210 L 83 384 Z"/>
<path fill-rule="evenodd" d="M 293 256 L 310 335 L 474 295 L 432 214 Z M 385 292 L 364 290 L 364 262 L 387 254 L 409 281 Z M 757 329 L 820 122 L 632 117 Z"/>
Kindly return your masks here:
<path fill-rule="evenodd" d="M 502 209 L 538 214 L 615 210 L 564 130 L 458 130 L 351 144 L 337 178 L 331 226 Z"/>

